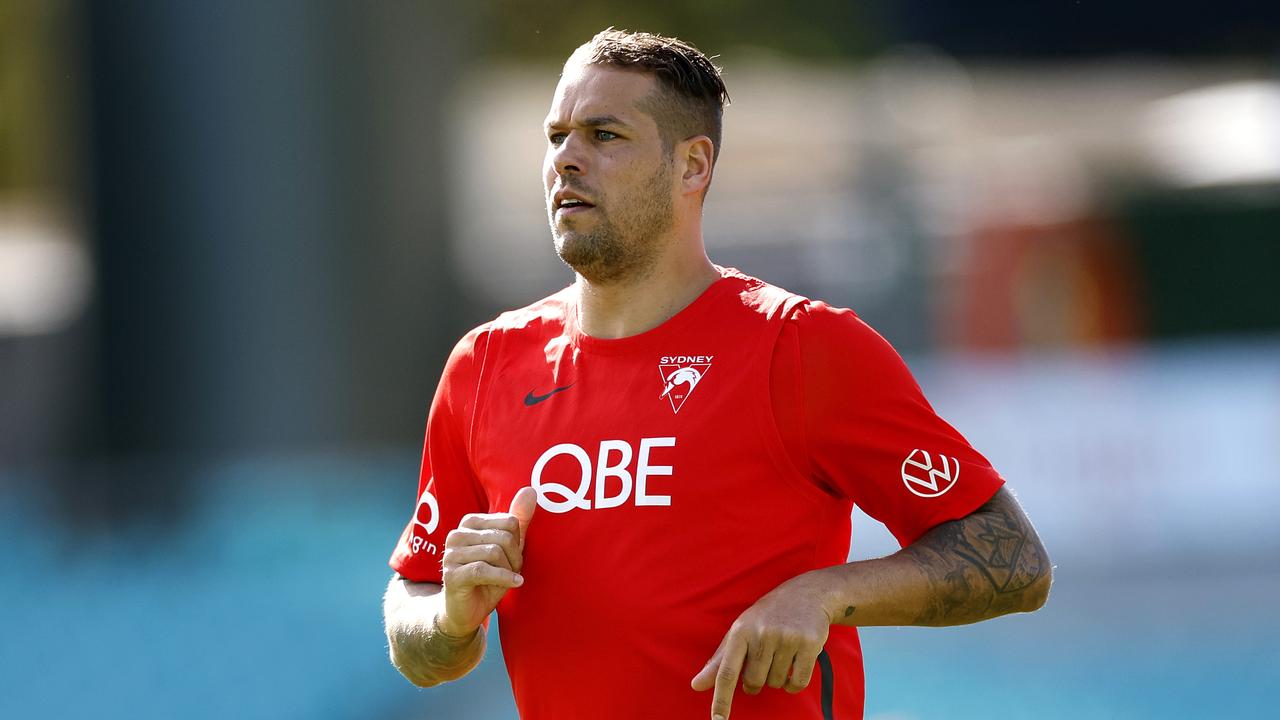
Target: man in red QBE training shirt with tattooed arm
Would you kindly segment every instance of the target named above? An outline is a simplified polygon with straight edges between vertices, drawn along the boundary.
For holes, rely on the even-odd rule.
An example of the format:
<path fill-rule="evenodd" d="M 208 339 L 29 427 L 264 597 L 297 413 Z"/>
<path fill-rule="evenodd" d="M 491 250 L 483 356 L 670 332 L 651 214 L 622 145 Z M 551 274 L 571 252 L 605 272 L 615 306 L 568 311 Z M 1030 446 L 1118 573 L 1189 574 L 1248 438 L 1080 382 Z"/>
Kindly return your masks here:
<path fill-rule="evenodd" d="M 1030 523 L 888 343 L 708 260 L 726 101 L 672 38 L 564 65 L 544 186 L 577 277 L 444 369 L 384 609 L 415 684 L 468 673 L 497 609 L 525 720 L 861 717 L 855 626 L 1044 602 Z M 846 564 L 854 503 L 904 550 Z"/>

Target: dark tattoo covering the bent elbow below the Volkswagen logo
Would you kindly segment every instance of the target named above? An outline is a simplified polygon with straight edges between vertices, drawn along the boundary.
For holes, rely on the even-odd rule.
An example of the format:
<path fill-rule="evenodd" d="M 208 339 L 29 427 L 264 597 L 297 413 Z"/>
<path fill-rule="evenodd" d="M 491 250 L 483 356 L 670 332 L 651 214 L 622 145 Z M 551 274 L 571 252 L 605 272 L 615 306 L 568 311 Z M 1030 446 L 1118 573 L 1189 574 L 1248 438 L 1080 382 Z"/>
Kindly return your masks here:
<path fill-rule="evenodd" d="M 1030 610 L 1047 592 L 1048 556 L 1005 489 L 972 515 L 933 528 L 904 552 L 934 591 L 915 620 L 919 625 L 975 623 Z"/>

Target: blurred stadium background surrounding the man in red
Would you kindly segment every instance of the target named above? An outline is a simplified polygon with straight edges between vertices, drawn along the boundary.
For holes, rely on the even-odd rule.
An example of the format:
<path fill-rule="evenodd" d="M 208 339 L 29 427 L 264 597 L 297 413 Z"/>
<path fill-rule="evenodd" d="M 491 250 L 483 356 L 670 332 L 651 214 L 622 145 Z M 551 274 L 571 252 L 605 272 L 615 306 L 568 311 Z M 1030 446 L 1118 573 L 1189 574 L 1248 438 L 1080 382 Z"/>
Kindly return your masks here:
<path fill-rule="evenodd" d="M 380 596 L 448 350 L 571 279 L 607 26 L 726 68 L 713 260 L 886 334 L 1057 564 L 864 632 L 868 717 L 1270 715 L 1280 5 L 0 0 L 0 717 L 515 717 Z"/>

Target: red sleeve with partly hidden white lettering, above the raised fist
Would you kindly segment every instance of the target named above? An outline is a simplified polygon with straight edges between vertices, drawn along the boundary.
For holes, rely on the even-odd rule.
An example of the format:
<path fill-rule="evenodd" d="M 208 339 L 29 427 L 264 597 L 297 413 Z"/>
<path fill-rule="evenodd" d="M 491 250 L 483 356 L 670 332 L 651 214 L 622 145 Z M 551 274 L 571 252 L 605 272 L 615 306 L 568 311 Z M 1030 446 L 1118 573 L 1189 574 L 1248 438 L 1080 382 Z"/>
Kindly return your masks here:
<path fill-rule="evenodd" d="M 390 557 L 392 569 L 416 583 L 439 583 L 444 537 L 463 515 L 488 511 L 467 455 L 488 338 L 476 329 L 458 341 L 431 401 L 417 502 Z"/>

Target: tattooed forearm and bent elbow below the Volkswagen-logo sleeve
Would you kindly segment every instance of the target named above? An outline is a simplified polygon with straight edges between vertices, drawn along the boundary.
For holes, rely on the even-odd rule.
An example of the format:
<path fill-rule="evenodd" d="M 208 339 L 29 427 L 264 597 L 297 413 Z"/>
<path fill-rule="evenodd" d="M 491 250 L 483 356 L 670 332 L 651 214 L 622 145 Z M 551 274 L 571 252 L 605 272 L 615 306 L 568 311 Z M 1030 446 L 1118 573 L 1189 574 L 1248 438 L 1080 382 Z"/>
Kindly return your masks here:
<path fill-rule="evenodd" d="M 814 582 L 836 624 L 963 625 L 1037 610 L 1048 597 L 1052 566 L 1002 489 L 888 557 L 827 568 Z"/>

